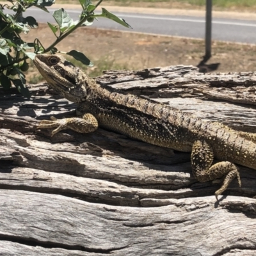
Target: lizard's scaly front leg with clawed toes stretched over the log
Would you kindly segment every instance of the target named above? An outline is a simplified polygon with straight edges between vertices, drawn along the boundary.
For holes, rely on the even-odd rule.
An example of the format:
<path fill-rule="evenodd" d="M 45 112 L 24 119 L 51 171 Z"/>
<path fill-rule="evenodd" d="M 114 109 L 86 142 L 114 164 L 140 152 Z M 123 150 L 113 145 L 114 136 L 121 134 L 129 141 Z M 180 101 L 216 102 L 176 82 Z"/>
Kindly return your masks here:
<path fill-rule="evenodd" d="M 56 128 L 52 131 L 51 136 L 65 129 L 72 129 L 76 132 L 88 133 L 93 132 L 98 128 L 97 119 L 92 114 L 84 114 L 81 118 L 63 118 L 56 119 L 51 116 L 51 120 L 42 120 L 38 128 Z"/>

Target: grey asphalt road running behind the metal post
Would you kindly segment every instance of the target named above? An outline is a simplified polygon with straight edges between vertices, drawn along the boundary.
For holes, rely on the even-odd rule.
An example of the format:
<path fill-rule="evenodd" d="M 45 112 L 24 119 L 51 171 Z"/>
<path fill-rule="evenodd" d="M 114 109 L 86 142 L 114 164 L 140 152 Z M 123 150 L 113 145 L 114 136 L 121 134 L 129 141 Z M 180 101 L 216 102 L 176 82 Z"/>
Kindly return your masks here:
<path fill-rule="evenodd" d="M 51 13 L 43 12 L 38 8 L 30 8 L 26 16 L 33 16 L 38 22 L 55 22 Z M 79 10 L 66 10 L 72 19 L 77 20 Z M 189 17 L 176 15 L 152 15 L 140 13 L 118 13 L 115 15 L 125 19 L 132 26 L 127 29 L 113 20 L 101 18 L 95 20 L 92 27 L 118 29 L 159 35 L 186 36 L 204 38 L 205 19 L 203 17 Z M 229 42 L 256 44 L 256 20 L 212 19 L 212 39 Z"/>

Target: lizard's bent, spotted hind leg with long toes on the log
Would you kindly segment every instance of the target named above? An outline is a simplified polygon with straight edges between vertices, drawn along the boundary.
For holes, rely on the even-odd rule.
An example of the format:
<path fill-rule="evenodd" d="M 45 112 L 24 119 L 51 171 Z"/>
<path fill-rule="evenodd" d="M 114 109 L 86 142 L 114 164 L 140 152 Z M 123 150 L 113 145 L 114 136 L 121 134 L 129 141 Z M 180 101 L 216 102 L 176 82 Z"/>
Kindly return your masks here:
<path fill-rule="evenodd" d="M 191 166 L 195 179 L 200 182 L 206 182 L 220 179 L 225 175 L 221 188 L 215 192 L 218 200 L 218 195 L 221 195 L 228 188 L 228 185 L 234 178 L 237 177 L 239 186 L 241 187 L 241 179 L 235 164 L 222 161 L 212 165 L 213 158 L 212 148 L 207 142 L 200 140 L 194 142 L 191 152 Z"/>

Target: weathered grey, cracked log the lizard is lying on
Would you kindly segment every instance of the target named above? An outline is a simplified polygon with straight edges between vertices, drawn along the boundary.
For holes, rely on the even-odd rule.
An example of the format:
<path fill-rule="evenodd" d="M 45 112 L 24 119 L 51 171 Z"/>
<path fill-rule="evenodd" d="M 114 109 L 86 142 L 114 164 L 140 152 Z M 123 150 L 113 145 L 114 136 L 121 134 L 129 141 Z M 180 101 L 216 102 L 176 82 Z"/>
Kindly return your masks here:
<path fill-rule="evenodd" d="M 202 119 L 255 132 L 256 72 L 200 74 L 175 66 L 98 77 Z M 255 255 L 256 171 L 241 167 L 216 202 L 189 154 L 99 129 L 36 130 L 75 105 L 31 85 L 0 92 L 0 255 Z"/>

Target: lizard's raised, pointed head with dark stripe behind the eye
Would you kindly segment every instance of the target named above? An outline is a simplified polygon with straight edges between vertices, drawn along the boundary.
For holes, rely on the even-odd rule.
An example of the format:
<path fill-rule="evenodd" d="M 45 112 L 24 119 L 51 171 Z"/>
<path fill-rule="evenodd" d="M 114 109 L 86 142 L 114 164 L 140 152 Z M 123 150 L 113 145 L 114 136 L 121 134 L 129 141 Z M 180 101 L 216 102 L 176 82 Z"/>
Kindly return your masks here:
<path fill-rule="evenodd" d="M 85 99 L 90 77 L 79 67 L 55 54 L 38 54 L 34 63 L 53 90 L 75 103 Z"/>

